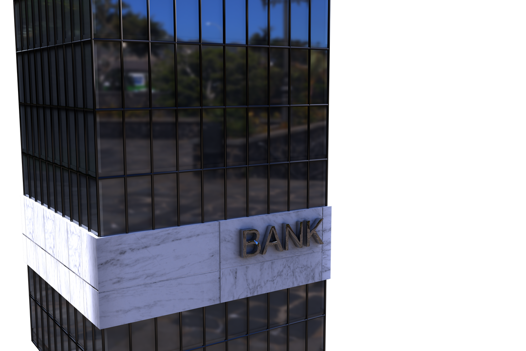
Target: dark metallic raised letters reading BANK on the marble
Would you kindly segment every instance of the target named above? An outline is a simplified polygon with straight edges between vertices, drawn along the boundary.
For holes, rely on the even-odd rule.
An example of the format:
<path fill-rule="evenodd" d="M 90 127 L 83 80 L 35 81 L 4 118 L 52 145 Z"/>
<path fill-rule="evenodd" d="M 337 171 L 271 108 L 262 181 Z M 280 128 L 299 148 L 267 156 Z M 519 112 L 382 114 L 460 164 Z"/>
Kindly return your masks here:
<path fill-rule="evenodd" d="M 289 238 L 296 245 L 296 247 L 310 246 L 310 238 L 312 237 L 318 244 L 323 244 L 316 229 L 323 221 L 323 218 L 318 218 L 310 225 L 310 220 L 296 222 L 296 233 L 288 223 L 282 224 L 282 240 L 280 240 L 276 227 L 273 225 L 267 226 L 267 232 L 262 240 L 259 230 L 254 228 L 241 229 L 239 234 L 239 254 L 242 258 L 254 257 L 256 255 L 265 255 L 270 246 L 274 246 L 276 250 L 283 251 L 289 249 Z M 305 226 L 304 226 L 305 223 Z M 304 230 L 305 227 L 305 230 Z M 305 233 L 304 233 L 305 232 Z"/>

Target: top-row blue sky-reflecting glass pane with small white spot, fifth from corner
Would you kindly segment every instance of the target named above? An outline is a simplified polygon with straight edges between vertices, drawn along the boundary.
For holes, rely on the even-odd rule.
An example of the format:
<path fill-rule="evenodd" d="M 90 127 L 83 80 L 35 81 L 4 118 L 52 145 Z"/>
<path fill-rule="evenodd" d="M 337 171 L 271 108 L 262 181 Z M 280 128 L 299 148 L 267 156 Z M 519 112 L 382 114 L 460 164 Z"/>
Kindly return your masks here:
<path fill-rule="evenodd" d="M 201 37 L 203 43 L 223 42 L 222 0 L 201 0 Z"/>

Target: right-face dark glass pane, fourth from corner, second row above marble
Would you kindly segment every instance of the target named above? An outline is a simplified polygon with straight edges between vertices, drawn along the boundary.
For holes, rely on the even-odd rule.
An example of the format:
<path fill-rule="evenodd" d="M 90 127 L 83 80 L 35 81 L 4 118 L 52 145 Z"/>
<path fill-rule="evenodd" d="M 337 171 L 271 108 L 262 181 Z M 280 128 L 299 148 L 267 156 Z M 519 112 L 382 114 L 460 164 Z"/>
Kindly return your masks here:
<path fill-rule="evenodd" d="M 178 110 L 179 169 L 201 168 L 201 124 L 198 109 Z"/>

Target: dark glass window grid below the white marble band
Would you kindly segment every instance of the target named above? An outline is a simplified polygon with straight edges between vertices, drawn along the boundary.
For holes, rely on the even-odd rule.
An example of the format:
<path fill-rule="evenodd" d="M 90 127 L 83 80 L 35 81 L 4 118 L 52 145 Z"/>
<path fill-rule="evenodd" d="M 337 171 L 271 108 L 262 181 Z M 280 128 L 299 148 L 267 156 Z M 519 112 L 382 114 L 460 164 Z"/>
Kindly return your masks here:
<path fill-rule="evenodd" d="M 326 349 L 326 281 L 100 330 L 27 276 L 31 339 L 44 351 Z"/>

